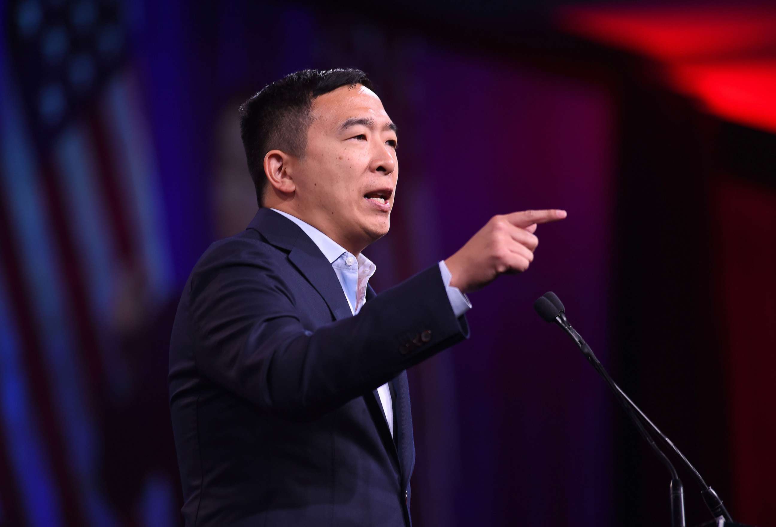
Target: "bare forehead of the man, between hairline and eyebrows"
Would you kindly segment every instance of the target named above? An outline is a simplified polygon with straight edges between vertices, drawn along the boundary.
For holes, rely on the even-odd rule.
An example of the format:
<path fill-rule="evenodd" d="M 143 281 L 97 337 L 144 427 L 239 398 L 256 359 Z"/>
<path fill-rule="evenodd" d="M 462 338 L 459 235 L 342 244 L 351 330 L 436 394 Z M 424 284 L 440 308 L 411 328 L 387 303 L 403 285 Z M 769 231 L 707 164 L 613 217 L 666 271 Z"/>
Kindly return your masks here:
<path fill-rule="evenodd" d="M 352 117 L 372 118 L 379 122 L 390 121 L 383 108 L 383 102 L 369 88 L 363 85 L 340 86 L 313 100 L 314 119 L 323 121 L 328 127 L 338 127 Z"/>

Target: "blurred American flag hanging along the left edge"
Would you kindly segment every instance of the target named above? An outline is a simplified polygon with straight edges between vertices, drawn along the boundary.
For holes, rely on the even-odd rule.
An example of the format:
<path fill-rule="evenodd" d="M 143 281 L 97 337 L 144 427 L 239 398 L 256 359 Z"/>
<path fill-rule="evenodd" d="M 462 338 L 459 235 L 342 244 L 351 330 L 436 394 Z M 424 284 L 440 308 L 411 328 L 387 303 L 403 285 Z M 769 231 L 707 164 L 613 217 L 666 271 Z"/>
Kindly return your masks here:
<path fill-rule="evenodd" d="M 122 299 L 158 306 L 172 286 L 123 5 L 3 11 L 0 525 L 168 525 L 171 482 L 154 466 L 135 504 L 106 489 L 103 421 L 138 389 Z"/>

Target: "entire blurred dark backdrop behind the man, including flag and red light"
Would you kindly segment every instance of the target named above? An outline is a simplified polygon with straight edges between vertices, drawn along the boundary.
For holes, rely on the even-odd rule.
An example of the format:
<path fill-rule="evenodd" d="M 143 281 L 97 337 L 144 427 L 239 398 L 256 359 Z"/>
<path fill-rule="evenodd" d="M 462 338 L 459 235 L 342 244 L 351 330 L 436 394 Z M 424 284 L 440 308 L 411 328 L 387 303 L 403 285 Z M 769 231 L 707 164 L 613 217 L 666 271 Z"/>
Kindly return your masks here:
<path fill-rule="evenodd" d="M 255 213 L 237 106 L 367 71 L 400 132 L 383 290 L 565 208 L 471 338 L 409 371 L 412 515 L 666 525 L 669 476 L 532 302 L 554 290 L 737 521 L 776 525 L 776 9 L 740 2 L 7 1 L 0 525 L 179 525 L 182 285 Z M 690 474 L 688 525 L 708 512 Z"/>

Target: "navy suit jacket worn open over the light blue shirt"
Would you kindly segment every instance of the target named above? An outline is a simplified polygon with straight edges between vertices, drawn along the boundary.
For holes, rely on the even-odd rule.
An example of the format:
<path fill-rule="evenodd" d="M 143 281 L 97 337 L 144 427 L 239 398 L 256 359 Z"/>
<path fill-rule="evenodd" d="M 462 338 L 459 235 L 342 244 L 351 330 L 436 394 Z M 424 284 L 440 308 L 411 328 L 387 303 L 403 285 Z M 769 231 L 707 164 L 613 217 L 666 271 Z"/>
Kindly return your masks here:
<path fill-rule="evenodd" d="M 272 210 L 210 245 L 170 345 L 186 525 L 411 525 L 404 370 L 469 330 L 438 265 L 366 298 L 352 316 L 317 245 Z"/>

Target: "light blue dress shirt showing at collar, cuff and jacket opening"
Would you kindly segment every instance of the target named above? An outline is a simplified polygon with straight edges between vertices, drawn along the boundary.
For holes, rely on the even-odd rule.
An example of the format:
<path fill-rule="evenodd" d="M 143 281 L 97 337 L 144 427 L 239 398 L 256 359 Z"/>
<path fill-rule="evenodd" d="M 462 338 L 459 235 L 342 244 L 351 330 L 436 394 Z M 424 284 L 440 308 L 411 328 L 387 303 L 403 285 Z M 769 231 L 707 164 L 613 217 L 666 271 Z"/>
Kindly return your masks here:
<path fill-rule="evenodd" d="M 336 241 L 296 216 L 292 216 L 282 210 L 272 210 L 282 214 L 295 224 L 299 225 L 300 229 L 302 229 L 314 244 L 317 245 L 320 251 L 324 253 L 324 257 L 331 263 L 331 267 L 334 269 L 334 272 L 339 279 L 339 283 L 342 286 L 342 292 L 345 293 L 345 298 L 348 300 L 348 305 L 350 306 L 352 314 L 357 314 L 366 302 L 366 284 L 369 283 L 369 279 L 375 274 L 375 265 L 369 258 L 366 258 L 362 254 L 353 256 Z M 452 312 L 456 315 L 456 318 L 460 317 L 471 309 L 472 304 L 469 302 L 469 298 L 461 293 L 461 290 L 457 287 L 450 286 L 452 275 L 450 274 L 449 269 L 447 269 L 444 260 L 439 262 L 439 271 L 442 272 L 442 281 L 445 283 L 445 290 L 450 301 L 450 306 L 452 307 Z M 382 403 L 383 411 L 386 414 L 388 428 L 390 428 L 390 433 L 393 435 L 393 400 L 390 396 L 388 384 L 386 383 L 379 387 L 377 389 L 377 394 L 379 394 L 380 403 Z"/>

